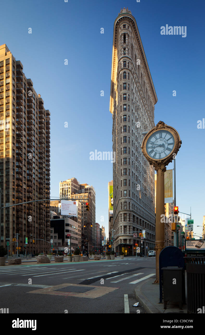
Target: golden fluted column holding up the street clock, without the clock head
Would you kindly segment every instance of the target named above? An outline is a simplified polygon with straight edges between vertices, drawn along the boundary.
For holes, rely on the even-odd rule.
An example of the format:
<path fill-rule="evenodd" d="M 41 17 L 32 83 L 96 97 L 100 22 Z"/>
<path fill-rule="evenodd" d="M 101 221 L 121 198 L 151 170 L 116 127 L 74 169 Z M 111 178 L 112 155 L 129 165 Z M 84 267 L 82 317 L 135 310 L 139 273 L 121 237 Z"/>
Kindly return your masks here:
<path fill-rule="evenodd" d="M 159 255 L 165 247 L 165 224 L 161 222 L 161 214 L 165 212 L 165 165 L 155 166 L 157 171 L 157 190 L 156 190 L 156 283 L 159 283 Z"/>

